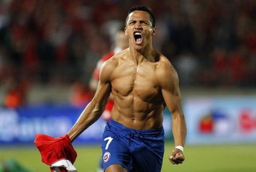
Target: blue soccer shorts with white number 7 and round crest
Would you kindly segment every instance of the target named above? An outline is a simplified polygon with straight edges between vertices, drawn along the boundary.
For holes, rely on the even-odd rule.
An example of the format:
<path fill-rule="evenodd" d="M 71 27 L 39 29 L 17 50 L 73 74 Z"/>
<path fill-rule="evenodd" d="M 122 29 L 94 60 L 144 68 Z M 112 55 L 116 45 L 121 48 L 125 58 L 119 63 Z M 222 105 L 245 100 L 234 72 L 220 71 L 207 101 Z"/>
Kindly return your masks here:
<path fill-rule="evenodd" d="M 127 171 L 161 171 L 164 129 L 133 130 L 111 119 L 102 135 L 103 169 L 118 164 Z"/>

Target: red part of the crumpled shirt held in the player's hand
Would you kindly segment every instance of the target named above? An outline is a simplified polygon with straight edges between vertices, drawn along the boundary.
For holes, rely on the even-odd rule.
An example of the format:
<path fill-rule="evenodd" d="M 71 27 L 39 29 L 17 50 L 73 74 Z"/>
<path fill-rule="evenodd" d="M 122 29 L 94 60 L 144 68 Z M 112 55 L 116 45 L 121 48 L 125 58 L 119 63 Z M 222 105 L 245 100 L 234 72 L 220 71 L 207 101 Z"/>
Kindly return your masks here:
<path fill-rule="evenodd" d="M 61 159 L 68 159 L 74 164 L 76 160 L 77 153 L 67 134 L 61 137 L 36 134 L 34 143 L 41 153 L 42 162 L 46 165 L 51 165 Z"/>

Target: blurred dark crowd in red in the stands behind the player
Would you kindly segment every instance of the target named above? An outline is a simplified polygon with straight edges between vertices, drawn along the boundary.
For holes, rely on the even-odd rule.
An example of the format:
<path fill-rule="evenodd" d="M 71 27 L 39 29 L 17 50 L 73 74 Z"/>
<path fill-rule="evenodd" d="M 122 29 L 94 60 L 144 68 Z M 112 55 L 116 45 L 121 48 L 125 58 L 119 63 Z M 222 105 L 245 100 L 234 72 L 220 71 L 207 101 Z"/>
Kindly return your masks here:
<path fill-rule="evenodd" d="M 181 87 L 255 86 L 254 0 L 0 1 L 0 86 L 20 96 L 33 84 L 86 88 L 133 5 L 153 10 L 154 47 Z"/>

